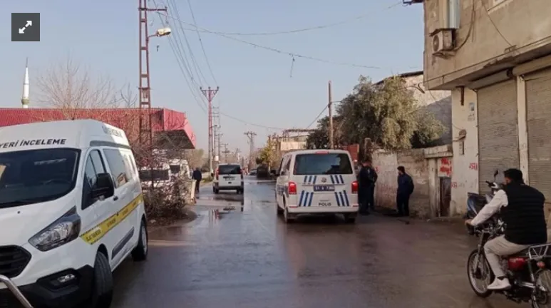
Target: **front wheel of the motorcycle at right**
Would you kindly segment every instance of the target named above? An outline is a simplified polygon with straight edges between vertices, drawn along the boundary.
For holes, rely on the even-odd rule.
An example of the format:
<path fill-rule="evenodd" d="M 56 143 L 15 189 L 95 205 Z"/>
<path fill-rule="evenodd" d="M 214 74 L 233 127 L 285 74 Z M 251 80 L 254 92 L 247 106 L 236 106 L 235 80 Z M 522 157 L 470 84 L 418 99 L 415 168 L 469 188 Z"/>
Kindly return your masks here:
<path fill-rule="evenodd" d="M 478 260 L 478 267 L 476 262 Z M 488 285 L 492 283 L 493 273 L 484 255 L 478 257 L 478 250 L 473 250 L 467 260 L 467 277 L 470 287 L 479 297 L 489 297 L 492 290 Z"/>

